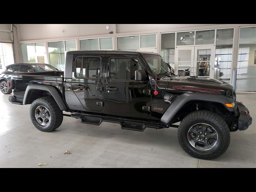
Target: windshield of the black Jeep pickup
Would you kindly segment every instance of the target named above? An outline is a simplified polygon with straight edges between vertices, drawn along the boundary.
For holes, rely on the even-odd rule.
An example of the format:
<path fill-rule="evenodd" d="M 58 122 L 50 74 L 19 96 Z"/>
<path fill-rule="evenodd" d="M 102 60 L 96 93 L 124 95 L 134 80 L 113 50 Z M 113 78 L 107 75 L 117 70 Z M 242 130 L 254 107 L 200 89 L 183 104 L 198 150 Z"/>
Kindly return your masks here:
<path fill-rule="evenodd" d="M 174 73 L 160 55 L 143 55 L 154 75 Z"/>

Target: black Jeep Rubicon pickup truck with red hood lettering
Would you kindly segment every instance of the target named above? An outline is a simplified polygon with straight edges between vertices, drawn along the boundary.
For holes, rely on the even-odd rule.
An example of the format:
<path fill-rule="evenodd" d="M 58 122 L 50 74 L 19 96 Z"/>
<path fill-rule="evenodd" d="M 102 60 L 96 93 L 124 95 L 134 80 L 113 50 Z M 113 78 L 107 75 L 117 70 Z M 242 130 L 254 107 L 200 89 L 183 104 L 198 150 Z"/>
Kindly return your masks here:
<path fill-rule="evenodd" d="M 30 118 L 40 131 L 55 130 L 63 116 L 94 125 L 120 123 L 136 131 L 176 127 L 184 151 L 202 159 L 222 155 L 230 132 L 252 123 L 231 84 L 179 77 L 150 52 L 70 51 L 64 73 L 13 74 L 8 86 L 10 102 L 31 104 Z"/>

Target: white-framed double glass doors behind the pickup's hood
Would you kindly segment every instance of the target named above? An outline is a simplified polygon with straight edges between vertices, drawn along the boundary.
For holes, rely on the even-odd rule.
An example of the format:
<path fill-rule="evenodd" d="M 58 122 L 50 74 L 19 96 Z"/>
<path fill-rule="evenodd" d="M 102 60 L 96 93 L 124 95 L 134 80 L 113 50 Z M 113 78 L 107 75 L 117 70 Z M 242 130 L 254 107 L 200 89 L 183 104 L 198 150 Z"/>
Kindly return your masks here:
<path fill-rule="evenodd" d="M 214 76 L 214 46 L 178 47 L 175 73 L 180 76 Z M 177 70 L 178 69 L 178 70 Z"/>

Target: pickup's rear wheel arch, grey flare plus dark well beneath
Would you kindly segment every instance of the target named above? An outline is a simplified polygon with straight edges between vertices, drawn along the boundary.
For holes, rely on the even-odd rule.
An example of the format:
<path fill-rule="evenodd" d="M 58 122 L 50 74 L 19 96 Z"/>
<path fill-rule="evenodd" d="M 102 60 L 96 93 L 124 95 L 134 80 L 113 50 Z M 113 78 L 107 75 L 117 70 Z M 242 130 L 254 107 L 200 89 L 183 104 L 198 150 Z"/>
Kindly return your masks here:
<path fill-rule="evenodd" d="M 42 96 L 52 96 L 58 104 L 60 110 L 67 110 L 67 106 L 62 99 L 60 91 L 56 87 L 50 85 L 28 85 L 24 94 L 23 104 L 31 104 L 34 100 Z"/>

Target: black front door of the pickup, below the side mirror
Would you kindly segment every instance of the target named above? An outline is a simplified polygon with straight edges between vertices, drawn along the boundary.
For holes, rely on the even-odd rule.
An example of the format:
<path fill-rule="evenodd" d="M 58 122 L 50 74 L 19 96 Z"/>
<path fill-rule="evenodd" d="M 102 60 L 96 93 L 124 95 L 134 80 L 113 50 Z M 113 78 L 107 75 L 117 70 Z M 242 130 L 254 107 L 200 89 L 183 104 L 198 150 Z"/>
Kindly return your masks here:
<path fill-rule="evenodd" d="M 144 70 L 134 55 L 106 57 L 106 88 L 104 111 L 123 117 L 150 115 L 151 96 L 149 79 L 135 80 L 135 71 Z"/>

